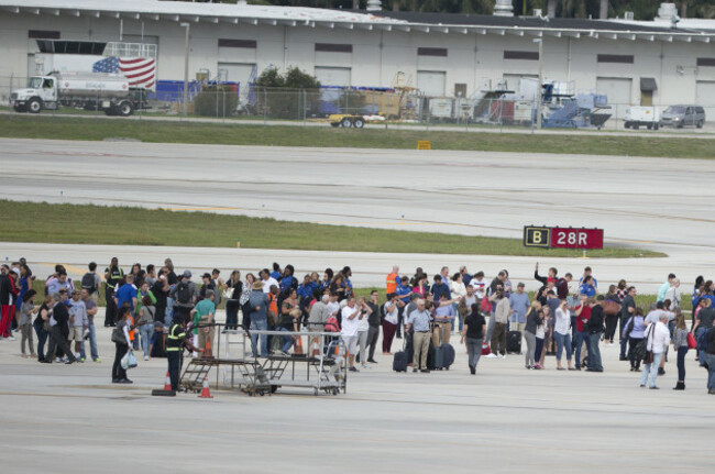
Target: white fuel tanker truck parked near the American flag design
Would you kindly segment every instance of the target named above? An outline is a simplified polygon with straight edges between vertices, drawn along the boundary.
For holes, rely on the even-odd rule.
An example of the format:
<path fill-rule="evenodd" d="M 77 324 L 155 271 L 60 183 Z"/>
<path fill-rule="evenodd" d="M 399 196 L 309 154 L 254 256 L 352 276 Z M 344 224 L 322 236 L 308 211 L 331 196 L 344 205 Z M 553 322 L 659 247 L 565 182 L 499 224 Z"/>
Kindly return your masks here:
<path fill-rule="evenodd" d="M 146 91 L 131 87 L 118 74 L 51 73 L 33 76 L 25 89 L 13 90 L 10 104 L 16 112 L 40 113 L 43 109 L 56 110 L 64 106 L 129 117 L 146 107 Z"/>

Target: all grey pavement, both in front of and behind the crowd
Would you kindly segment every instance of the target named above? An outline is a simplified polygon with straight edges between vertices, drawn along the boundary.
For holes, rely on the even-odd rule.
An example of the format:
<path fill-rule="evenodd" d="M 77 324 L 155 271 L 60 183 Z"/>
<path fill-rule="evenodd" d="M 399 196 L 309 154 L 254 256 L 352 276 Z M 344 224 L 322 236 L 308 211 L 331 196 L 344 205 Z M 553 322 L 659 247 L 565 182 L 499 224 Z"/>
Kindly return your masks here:
<path fill-rule="evenodd" d="M 715 192 L 708 161 L 417 152 L 150 145 L 0 140 L 0 197 L 248 213 L 322 223 L 519 238 L 524 224 L 603 227 L 606 241 L 667 252 L 668 258 L 539 258 L 573 273 L 588 264 L 601 287 L 620 277 L 654 291 L 666 274 L 707 274 Z M 8 224 L 8 223 L 6 223 Z M 15 222 L 11 224 L 22 224 Z M 81 230 L 78 229 L 78 232 Z M 240 231 L 237 232 L 240 239 Z M 200 245 L 200 242 L 191 244 Z M 465 263 L 491 277 L 531 276 L 536 258 L 0 243 L 0 258 L 25 256 L 38 276 L 54 263 L 78 276 L 117 255 L 178 268 L 252 269 L 274 261 L 298 274 L 351 265 L 356 285 Z M 222 315 L 219 315 L 222 318 Z M 101 326 L 102 317 L 97 320 Z M 19 338 L 19 334 L 15 334 Z M 526 371 L 519 355 L 483 359 L 469 375 L 457 338 L 449 372 L 396 374 L 392 356 L 351 374 L 348 393 L 280 388 L 249 397 L 212 390 L 151 397 L 165 360 L 110 383 L 114 348 L 98 328 L 101 363 L 37 364 L 20 341 L 0 342 L 3 472 L 625 473 L 712 471 L 715 398 L 688 354 L 685 392 L 673 392 L 674 357 L 660 390 L 603 348 L 605 372 Z M 380 348 L 380 345 L 378 345 Z M 393 351 L 402 348 L 395 340 Z M 212 381 L 213 376 L 210 377 Z"/>

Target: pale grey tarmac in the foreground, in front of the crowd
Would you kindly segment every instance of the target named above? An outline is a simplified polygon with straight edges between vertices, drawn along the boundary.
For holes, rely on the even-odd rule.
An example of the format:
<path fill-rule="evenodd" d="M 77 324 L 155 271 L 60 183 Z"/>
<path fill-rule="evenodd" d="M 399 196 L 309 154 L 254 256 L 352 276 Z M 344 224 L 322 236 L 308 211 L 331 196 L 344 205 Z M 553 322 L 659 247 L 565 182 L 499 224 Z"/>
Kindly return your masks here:
<path fill-rule="evenodd" d="M 394 373 L 378 344 L 378 363 L 351 373 L 346 394 L 213 387 L 199 399 L 152 397 L 166 360 L 141 351 L 134 384 L 112 385 L 110 330 L 98 340 L 102 362 L 74 365 L 23 360 L 19 341 L 0 342 L 3 472 L 712 472 L 715 397 L 692 351 L 685 392 L 671 389 L 674 357 L 649 390 L 603 344 L 601 374 L 558 372 L 552 356 L 527 371 L 507 355 L 482 359 L 472 376 L 453 338 L 448 372 Z"/>

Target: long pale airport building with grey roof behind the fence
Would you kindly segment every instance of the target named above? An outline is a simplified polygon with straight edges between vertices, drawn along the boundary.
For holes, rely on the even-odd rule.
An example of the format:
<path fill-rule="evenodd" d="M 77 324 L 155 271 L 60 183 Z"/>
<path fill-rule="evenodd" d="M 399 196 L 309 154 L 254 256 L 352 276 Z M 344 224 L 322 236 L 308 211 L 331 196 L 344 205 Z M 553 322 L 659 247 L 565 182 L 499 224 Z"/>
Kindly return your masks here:
<path fill-rule="evenodd" d="M 267 67 L 297 66 L 323 86 L 400 85 L 429 97 L 471 97 L 497 85 L 518 91 L 541 65 L 544 79 L 605 93 L 614 104 L 697 103 L 715 117 L 715 20 L 678 19 L 672 3 L 649 22 L 516 16 L 508 1 L 497 1 L 494 15 L 392 12 L 378 3 L 343 11 L 0 0 L 0 99 L 8 100 L 8 78 L 42 71 L 37 54 L 108 45 L 151 45 L 157 84 L 180 81 L 188 31 L 191 78 L 205 71 L 246 85 Z"/>

